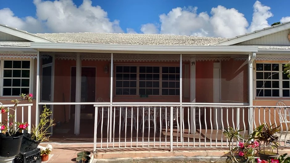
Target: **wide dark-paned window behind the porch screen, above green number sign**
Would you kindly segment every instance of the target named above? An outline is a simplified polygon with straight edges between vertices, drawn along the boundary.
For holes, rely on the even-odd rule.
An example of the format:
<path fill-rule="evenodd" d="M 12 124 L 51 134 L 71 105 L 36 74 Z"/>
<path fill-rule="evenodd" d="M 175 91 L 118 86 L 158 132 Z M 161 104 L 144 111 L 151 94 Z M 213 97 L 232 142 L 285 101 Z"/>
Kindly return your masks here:
<path fill-rule="evenodd" d="M 179 67 L 116 66 L 116 95 L 179 95 Z"/>

